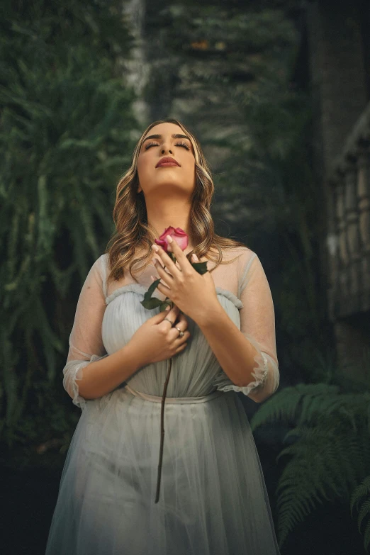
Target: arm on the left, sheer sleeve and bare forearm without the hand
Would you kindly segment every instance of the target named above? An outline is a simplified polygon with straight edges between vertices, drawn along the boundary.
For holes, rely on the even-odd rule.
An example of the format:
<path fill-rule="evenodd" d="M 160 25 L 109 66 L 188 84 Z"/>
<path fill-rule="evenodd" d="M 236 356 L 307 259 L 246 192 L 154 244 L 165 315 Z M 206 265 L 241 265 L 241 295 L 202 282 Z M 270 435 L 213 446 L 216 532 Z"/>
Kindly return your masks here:
<path fill-rule="evenodd" d="M 113 391 L 139 368 L 138 353 L 130 344 L 111 355 L 106 354 L 101 337 L 106 310 L 102 264 L 100 257 L 82 286 L 63 369 L 63 386 L 74 405 L 82 410 L 86 399 L 102 397 Z"/>

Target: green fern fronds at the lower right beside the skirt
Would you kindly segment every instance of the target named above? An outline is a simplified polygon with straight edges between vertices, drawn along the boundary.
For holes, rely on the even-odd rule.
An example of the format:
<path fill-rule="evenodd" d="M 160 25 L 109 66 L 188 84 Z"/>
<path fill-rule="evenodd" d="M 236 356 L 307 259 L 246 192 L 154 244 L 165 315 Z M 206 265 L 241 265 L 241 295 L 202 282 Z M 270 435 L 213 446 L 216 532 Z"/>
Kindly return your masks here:
<path fill-rule="evenodd" d="M 291 426 L 277 457 L 289 456 L 276 488 L 279 544 L 318 503 L 335 498 L 347 499 L 352 513 L 367 495 L 360 528 L 370 507 L 370 392 L 343 393 L 337 385 L 298 383 L 261 405 L 252 418 L 252 431 L 272 422 Z M 369 529 L 368 523 L 365 547 Z"/>

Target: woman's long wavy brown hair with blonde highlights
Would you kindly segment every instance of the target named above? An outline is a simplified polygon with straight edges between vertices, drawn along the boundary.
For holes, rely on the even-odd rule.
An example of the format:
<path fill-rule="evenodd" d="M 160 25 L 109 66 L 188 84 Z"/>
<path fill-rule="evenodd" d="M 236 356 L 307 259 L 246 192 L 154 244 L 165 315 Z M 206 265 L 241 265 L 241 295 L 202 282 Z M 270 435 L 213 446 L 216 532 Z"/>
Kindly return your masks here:
<path fill-rule="evenodd" d="M 141 261 L 143 262 L 140 267 L 134 270 L 135 274 L 145 267 L 153 256 L 151 245 L 155 242 L 157 235 L 155 229 L 147 221 L 144 194 L 142 191 L 140 193 L 137 192 L 139 185 L 138 156 L 145 135 L 147 135 L 147 132 L 152 127 L 159 123 L 175 123 L 179 125 L 189 137 L 194 147 L 196 186 L 191 196 L 189 233 L 196 247 L 186 254 L 189 262 L 191 254 L 195 252 L 198 259 L 206 257 L 216 262 L 214 270 L 218 267 L 218 264 L 229 264 L 235 259 L 224 262 L 222 249 L 246 246 L 240 241 L 220 237 L 214 231 L 210 207 L 215 188 L 211 169 L 196 137 L 179 120 L 157 120 L 151 123 L 142 133 L 133 151 L 131 167 L 118 181 L 116 203 L 113 208 L 113 221 L 116 225 L 116 231 L 108 241 L 106 248 L 111 269 L 107 279 L 108 283 L 119 281 L 124 275 L 124 269 L 127 267 L 132 278 L 138 282 L 138 279 L 133 275 L 133 265 Z M 110 244 L 111 246 L 109 246 Z M 135 257 L 135 249 L 142 247 L 144 248 L 144 254 L 141 257 Z"/>

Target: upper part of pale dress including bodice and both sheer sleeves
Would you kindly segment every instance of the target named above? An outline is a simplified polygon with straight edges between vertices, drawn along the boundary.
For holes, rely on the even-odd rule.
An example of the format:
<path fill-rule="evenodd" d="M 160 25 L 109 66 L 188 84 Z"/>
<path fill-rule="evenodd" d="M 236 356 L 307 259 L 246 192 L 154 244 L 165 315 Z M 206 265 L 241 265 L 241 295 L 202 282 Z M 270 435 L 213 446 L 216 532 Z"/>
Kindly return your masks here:
<path fill-rule="evenodd" d="M 201 259 L 202 262 L 205 258 Z M 138 264 L 138 262 L 135 262 Z M 142 262 L 140 262 L 142 264 Z M 249 395 L 263 386 L 266 396 L 279 386 L 279 366 L 276 356 L 274 303 L 269 283 L 257 254 L 247 247 L 223 251 L 223 264 L 207 263 L 215 284 L 218 301 L 230 320 L 249 340 L 257 353 L 250 379 L 250 363 L 245 374 L 248 383 L 236 385 L 220 367 L 200 327 L 186 315 L 189 340 L 184 351 L 172 357 L 172 371 L 167 388 L 169 397 L 205 396 L 219 391 L 237 391 Z M 108 285 L 108 254 L 94 262 L 86 277 L 77 303 L 74 325 L 69 336 L 67 363 L 63 369 L 63 385 L 75 405 L 84 408 L 86 402 L 79 395 L 79 380 L 86 366 L 123 348 L 146 320 L 159 312 L 147 310 L 140 301 L 152 281 L 157 278 L 153 264 L 134 271 L 137 282 L 129 271 L 120 281 Z M 153 296 L 164 300 L 155 290 Z M 162 396 L 167 376 L 168 361 L 147 364 L 120 384 L 130 383 L 136 391 Z M 85 370 L 86 369 L 86 370 Z"/>

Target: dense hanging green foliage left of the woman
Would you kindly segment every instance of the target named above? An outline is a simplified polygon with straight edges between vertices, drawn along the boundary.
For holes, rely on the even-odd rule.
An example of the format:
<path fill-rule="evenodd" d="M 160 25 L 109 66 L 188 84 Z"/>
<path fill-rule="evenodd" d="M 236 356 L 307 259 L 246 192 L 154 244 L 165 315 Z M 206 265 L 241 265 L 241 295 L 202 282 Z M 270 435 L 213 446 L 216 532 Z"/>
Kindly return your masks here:
<path fill-rule="evenodd" d="M 130 47 L 119 13 L 106 0 L 1 6 L 0 434 L 9 447 L 65 433 L 62 401 L 52 398 L 49 425 L 35 398 L 62 383 L 77 297 L 113 231 L 115 184 L 130 163 L 135 94 L 117 71 Z"/>

